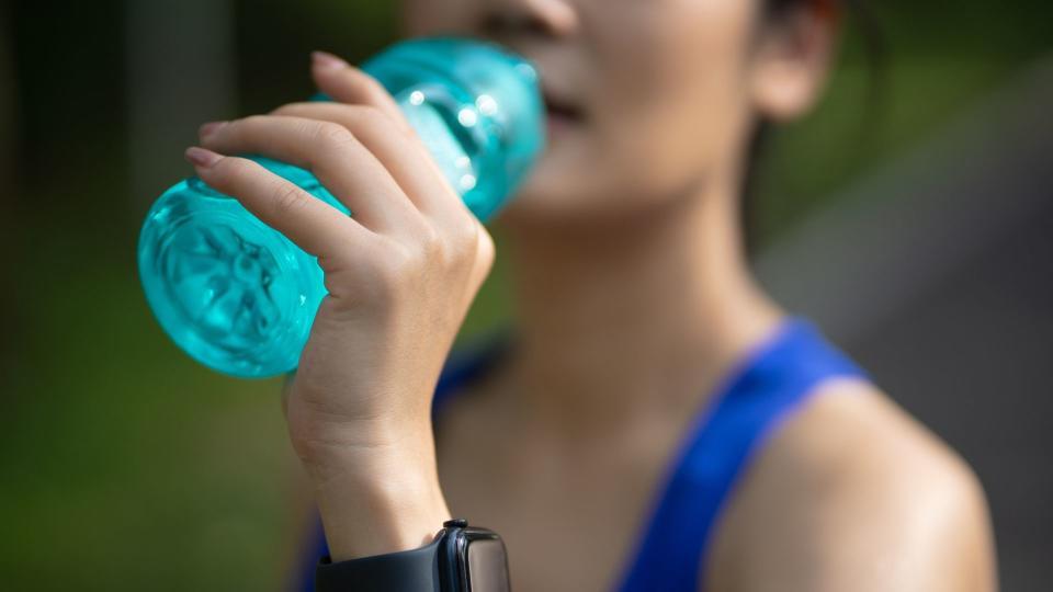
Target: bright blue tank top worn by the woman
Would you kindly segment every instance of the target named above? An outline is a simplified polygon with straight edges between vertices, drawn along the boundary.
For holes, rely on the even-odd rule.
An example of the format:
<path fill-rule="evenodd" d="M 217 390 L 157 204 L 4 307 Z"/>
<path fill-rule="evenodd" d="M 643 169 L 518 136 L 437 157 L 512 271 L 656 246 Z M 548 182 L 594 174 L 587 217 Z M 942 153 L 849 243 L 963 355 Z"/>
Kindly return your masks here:
<path fill-rule="evenodd" d="M 461 350 L 451 355 L 435 388 L 432 412 L 458 387 L 479 376 L 508 348 Z M 774 430 L 829 378 L 864 374 L 807 321 L 790 319 L 746 355 L 694 418 L 665 471 L 648 508 L 616 590 L 694 592 L 705 576 L 703 561 L 713 526 L 739 477 Z M 328 555 L 320 526 L 305 558 L 299 590 L 314 590 L 318 558 Z"/>

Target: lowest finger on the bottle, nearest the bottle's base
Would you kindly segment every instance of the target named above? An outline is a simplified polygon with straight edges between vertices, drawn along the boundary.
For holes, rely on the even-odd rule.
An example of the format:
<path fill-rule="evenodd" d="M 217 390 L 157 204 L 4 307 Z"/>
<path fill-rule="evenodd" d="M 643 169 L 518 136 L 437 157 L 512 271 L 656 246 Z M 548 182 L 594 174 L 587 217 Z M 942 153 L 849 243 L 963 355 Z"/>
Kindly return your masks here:
<path fill-rule="evenodd" d="M 185 156 L 208 186 L 237 198 L 308 253 L 326 259 L 362 251 L 367 230 L 259 163 L 196 146 L 188 148 Z"/>

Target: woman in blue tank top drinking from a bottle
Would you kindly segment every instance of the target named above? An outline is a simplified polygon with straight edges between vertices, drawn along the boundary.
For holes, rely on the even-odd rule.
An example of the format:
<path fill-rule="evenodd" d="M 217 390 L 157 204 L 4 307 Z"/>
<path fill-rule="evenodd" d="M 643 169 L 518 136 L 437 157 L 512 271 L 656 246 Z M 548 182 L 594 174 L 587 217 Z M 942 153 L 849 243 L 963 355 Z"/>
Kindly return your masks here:
<path fill-rule="evenodd" d="M 518 591 L 995 589 L 970 469 L 751 277 L 743 179 L 816 101 L 834 0 L 406 0 L 409 35 L 539 66 L 550 149 L 501 217 L 513 346 L 432 392 L 490 267 L 392 99 L 316 54 L 343 104 L 206 124 L 206 182 L 318 255 L 329 297 L 287 389 L 333 561 L 456 515 Z M 309 167 L 349 219 L 250 161 Z"/>

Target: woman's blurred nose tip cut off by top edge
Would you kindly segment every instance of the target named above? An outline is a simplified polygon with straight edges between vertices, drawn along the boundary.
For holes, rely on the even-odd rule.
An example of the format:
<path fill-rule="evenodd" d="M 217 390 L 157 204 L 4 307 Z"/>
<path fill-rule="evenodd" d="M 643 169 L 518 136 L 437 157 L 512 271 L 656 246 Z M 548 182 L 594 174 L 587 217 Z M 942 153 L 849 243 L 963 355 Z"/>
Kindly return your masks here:
<path fill-rule="evenodd" d="M 499 41 L 566 37 L 578 30 L 577 11 L 567 0 L 496 0 L 485 4 L 483 32 Z"/>

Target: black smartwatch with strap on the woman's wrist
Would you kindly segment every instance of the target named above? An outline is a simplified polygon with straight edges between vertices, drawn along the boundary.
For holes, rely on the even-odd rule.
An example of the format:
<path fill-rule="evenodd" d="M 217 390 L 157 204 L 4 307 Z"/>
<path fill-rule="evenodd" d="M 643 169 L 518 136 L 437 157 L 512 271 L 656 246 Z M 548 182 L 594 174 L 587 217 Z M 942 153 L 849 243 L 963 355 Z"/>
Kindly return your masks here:
<path fill-rule="evenodd" d="M 505 543 L 494 531 L 448 520 L 417 549 L 338 563 L 322 557 L 316 592 L 509 592 Z"/>

